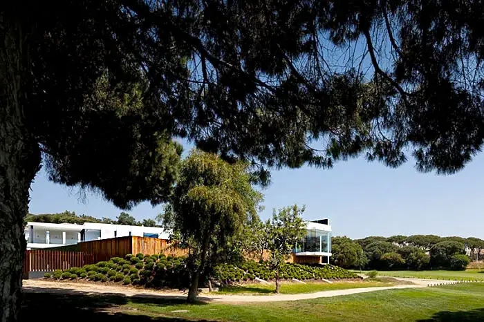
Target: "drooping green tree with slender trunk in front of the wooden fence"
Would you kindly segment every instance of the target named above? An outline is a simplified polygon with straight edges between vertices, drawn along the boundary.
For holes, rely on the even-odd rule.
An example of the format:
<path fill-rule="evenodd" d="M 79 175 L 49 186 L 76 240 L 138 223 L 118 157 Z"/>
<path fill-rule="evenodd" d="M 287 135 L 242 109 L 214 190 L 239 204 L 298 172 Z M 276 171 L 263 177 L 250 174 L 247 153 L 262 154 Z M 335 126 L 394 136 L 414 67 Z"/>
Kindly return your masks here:
<path fill-rule="evenodd" d="M 183 160 L 163 225 L 189 247 L 189 302 L 196 299 L 200 278 L 257 216 L 262 195 L 250 178 L 245 162 L 229 164 L 212 153 L 194 150 Z"/>

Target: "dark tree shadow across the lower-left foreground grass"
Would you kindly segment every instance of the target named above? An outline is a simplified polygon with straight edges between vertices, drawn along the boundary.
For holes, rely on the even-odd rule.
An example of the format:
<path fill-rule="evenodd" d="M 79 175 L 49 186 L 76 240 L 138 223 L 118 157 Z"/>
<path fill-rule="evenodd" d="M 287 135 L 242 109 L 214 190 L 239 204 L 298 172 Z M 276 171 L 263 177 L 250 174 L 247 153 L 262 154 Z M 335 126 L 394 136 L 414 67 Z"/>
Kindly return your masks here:
<path fill-rule="evenodd" d="M 148 316 L 136 309 L 120 307 L 127 303 L 145 303 L 159 307 L 185 304 L 184 296 L 142 296 L 127 297 L 124 294 L 95 293 L 72 291 L 68 294 L 64 289 L 48 289 L 44 292 L 24 292 L 24 301 L 20 312 L 20 320 L 31 321 L 68 321 L 68 322 L 158 322 L 158 321 L 192 321 L 174 316 Z M 205 305 L 198 302 L 197 305 Z M 200 320 L 198 320 L 200 321 Z M 207 320 L 202 320 L 207 321 Z"/>

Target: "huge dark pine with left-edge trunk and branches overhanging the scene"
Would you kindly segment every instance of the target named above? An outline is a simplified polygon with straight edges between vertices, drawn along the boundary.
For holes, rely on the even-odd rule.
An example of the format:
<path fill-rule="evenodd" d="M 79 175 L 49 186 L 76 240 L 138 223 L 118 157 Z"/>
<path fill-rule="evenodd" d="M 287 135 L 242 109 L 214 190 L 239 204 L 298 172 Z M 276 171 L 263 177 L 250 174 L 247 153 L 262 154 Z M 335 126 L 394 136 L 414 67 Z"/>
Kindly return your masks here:
<path fill-rule="evenodd" d="M 41 164 L 55 182 L 98 189 L 123 209 L 166 201 L 179 156 L 174 135 L 259 164 L 261 180 L 269 178 L 264 167 L 328 168 L 361 154 L 390 167 L 411 153 L 420 171 L 462 169 L 484 137 L 484 36 L 475 23 L 483 8 L 267 0 L 1 6 L 1 320 L 17 319 L 23 218 Z"/>

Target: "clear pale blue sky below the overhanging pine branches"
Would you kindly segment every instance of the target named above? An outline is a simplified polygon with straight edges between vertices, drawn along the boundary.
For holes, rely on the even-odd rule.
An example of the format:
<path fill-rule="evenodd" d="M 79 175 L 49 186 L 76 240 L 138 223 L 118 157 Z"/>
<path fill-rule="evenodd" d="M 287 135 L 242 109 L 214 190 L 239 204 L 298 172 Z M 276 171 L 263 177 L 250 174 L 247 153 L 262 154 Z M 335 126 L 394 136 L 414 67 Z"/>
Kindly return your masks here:
<path fill-rule="evenodd" d="M 333 169 L 310 167 L 272 171 L 272 184 L 263 190 L 266 209 L 306 205 L 304 218 L 330 218 L 333 234 L 437 234 L 484 238 L 484 155 L 478 155 L 452 176 L 418 173 L 411 161 L 397 169 L 355 159 Z M 32 214 L 75 211 L 98 218 L 115 218 L 120 209 L 101 196 L 48 181 L 40 171 L 30 191 Z M 154 218 L 161 206 L 143 203 L 129 211 L 136 218 Z"/>

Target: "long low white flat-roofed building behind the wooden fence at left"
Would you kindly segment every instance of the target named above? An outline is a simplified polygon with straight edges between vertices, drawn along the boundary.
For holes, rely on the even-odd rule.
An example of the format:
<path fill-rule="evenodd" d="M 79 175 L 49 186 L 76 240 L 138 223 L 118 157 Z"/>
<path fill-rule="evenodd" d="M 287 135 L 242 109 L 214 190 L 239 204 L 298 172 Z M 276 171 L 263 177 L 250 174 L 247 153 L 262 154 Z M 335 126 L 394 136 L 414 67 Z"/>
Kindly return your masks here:
<path fill-rule="evenodd" d="M 159 227 L 98 224 L 84 222 L 77 224 L 51 224 L 46 222 L 27 222 L 25 238 L 27 249 L 43 249 L 74 245 L 83 241 L 140 236 L 168 239 L 168 234 Z"/>

